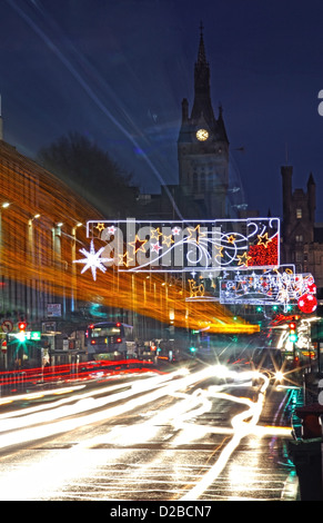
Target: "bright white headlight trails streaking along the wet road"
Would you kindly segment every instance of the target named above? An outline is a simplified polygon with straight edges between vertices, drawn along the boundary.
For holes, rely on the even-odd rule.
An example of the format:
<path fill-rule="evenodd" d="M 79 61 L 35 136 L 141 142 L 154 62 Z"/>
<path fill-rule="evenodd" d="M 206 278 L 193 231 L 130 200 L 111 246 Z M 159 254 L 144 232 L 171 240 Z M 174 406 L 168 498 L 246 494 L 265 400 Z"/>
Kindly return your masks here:
<path fill-rule="evenodd" d="M 80 478 L 82 474 L 89 473 L 89 468 L 95 471 L 97 466 L 100 466 L 100 458 L 98 456 L 98 460 L 91 458 L 91 463 L 85 464 L 83 460 L 81 458 L 81 452 L 84 452 L 84 450 L 89 445 L 93 447 L 95 444 L 101 444 L 101 443 L 111 443 L 115 444 L 117 448 L 120 446 L 120 452 L 121 453 L 127 453 L 127 452 L 132 452 L 131 445 L 134 445 L 135 443 L 141 443 L 141 442 L 148 442 L 151 441 L 155 437 L 158 431 L 160 431 L 160 427 L 163 425 L 173 425 L 173 428 L 175 431 L 179 431 L 179 434 L 175 435 L 175 437 L 169 443 L 171 446 L 173 445 L 179 445 L 181 443 L 188 444 L 188 442 L 201 438 L 205 436 L 208 433 L 216 433 L 216 434 L 228 434 L 232 436 L 230 442 L 226 444 L 226 446 L 223 448 L 223 451 L 220 454 L 219 460 L 216 463 L 204 474 L 204 476 L 190 490 L 186 492 L 186 494 L 182 497 L 182 500 L 196 500 L 199 499 L 203 492 L 210 486 L 210 484 L 216 480 L 223 467 L 226 465 L 230 456 L 232 455 L 232 452 L 236 448 L 241 440 L 249 435 L 249 434 L 254 434 L 258 436 L 262 436 L 264 434 L 284 434 L 284 435 L 290 435 L 291 430 L 286 431 L 285 427 L 260 427 L 256 426 L 256 423 L 259 421 L 259 416 L 262 411 L 262 405 L 263 405 L 263 399 L 264 399 L 264 392 L 265 388 L 269 384 L 269 378 L 266 376 L 260 375 L 260 377 L 263 379 L 264 384 L 263 387 L 260 391 L 259 399 L 258 402 L 252 402 L 249 398 L 244 397 L 235 397 L 230 394 L 225 394 L 223 391 L 223 387 L 225 385 L 220 385 L 220 386 L 210 386 L 208 389 L 196 389 L 193 394 L 185 394 L 181 391 L 185 389 L 185 387 L 196 384 L 202 379 L 205 379 L 208 377 L 214 376 L 214 371 L 215 367 L 206 367 L 205 369 L 194 373 L 192 375 L 185 375 L 182 377 L 179 377 L 178 373 L 172 373 L 171 375 L 160 375 L 153 378 L 147 378 L 144 379 L 144 383 L 131 383 L 133 385 L 132 388 L 129 391 L 123 391 L 118 393 L 118 386 L 115 387 L 107 387 L 104 389 L 99 389 L 98 394 L 102 394 L 102 391 L 107 391 L 107 393 L 111 392 L 112 388 L 115 391 L 115 394 L 111 394 L 109 397 L 104 398 L 91 398 L 93 395 L 93 392 L 82 394 L 81 396 L 78 397 L 78 403 L 74 405 L 65 405 L 67 402 L 73 402 L 75 401 L 75 396 L 69 397 L 69 398 L 63 398 L 59 402 L 55 402 L 53 406 L 51 405 L 46 405 L 44 408 L 50 408 L 50 414 L 54 414 L 52 420 L 58 420 L 60 416 L 65 416 L 65 415 L 71 415 L 75 413 L 84 413 L 84 415 L 75 416 L 72 420 L 64 420 L 64 421 L 57 421 L 54 423 L 50 423 L 49 417 L 47 417 L 47 423 L 48 425 L 40 426 L 40 427 L 30 427 L 30 428 L 24 428 L 17 431 L 17 433 L 11 432 L 8 435 L 0 435 L 0 445 L 1 447 L 14 445 L 18 443 L 22 442 L 28 442 L 28 441 L 37 441 L 42 437 L 47 436 L 53 436 L 54 434 L 60 434 L 67 431 L 72 431 L 74 428 L 78 428 L 80 426 L 84 426 L 87 424 L 92 424 L 92 423 L 100 423 L 104 420 L 111 418 L 113 416 L 120 416 L 127 412 L 130 412 L 141 405 L 148 405 L 149 403 L 155 402 L 157 399 L 160 399 L 161 397 L 178 397 L 180 398 L 179 402 L 176 402 L 174 405 L 171 405 L 170 407 L 158 412 L 157 414 L 153 413 L 153 415 L 145 421 L 144 423 L 140 423 L 138 425 L 132 425 L 132 426 L 117 426 L 105 433 L 104 435 L 100 435 L 98 437 L 91 438 L 91 440 L 85 440 L 82 441 L 81 443 L 78 443 L 74 445 L 68 454 L 68 460 L 67 460 L 67 466 L 64 465 L 63 471 L 61 471 L 61 467 L 58 467 L 55 464 L 57 456 L 51 456 L 50 460 L 46 460 L 43 464 L 41 463 L 36 463 L 32 465 L 32 475 L 34 475 L 33 470 L 37 472 L 39 471 L 39 474 L 42 474 L 44 477 L 44 485 L 42 485 L 39 481 L 38 484 L 40 484 L 40 489 L 42 491 L 42 494 L 49 492 L 49 494 L 52 494 L 52 489 L 58 487 L 61 489 L 61 485 L 64 482 L 69 482 L 71 477 L 74 478 Z M 223 373 L 225 374 L 225 367 L 218 367 L 219 375 L 223 377 Z M 234 373 L 231 373 L 228 371 L 228 374 L 230 373 L 230 376 L 233 377 Z M 241 374 L 241 373 L 240 373 Z M 125 384 L 129 385 L 129 384 Z M 230 384 L 230 386 L 234 386 L 234 384 Z M 150 392 L 150 388 L 155 386 L 157 389 Z M 124 387 L 124 385 L 123 385 Z M 133 395 L 142 393 L 143 395 L 134 398 Z M 211 406 L 212 406 L 212 401 L 214 397 L 218 397 L 219 399 L 226 399 L 226 401 L 232 401 L 232 402 L 238 402 L 241 404 L 246 405 L 249 408 L 248 411 L 244 411 L 243 413 L 234 416 L 232 418 L 232 426 L 231 427 L 221 427 L 221 426 L 210 426 L 210 425 L 202 425 L 199 424 L 198 416 L 202 415 L 205 412 L 210 412 Z M 90 399 L 90 403 L 88 404 L 88 399 Z M 117 406 L 110 406 L 109 403 L 114 403 L 122 399 L 129 399 L 124 404 L 118 404 Z M 93 408 L 97 407 L 102 407 L 107 405 L 107 408 L 102 412 L 95 412 L 92 414 L 87 414 L 89 411 L 92 411 Z M 36 407 L 32 407 L 36 408 Z M 42 408 L 42 406 L 41 406 Z M 57 411 L 57 412 L 55 412 Z M 36 424 L 36 423 L 43 423 L 43 412 L 32 412 L 32 409 L 29 409 L 30 414 L 26 414 L 26 409 L 20 411 L 20 414 L 18 412 L 12 413 L 12 416 L 18 417 L 18 420 L 11 420 L 13 422 L 19 422 L 22 424 L 20 425 L 26 426 L 26 423 L 29 425 Z M 38 422 L 36 421 L 37 418 L 34 415 L 39 415 Z M 0 420 L 3 417 L 3 422 L 10 420 L 6 420 L 6 416 L 1 416 Z M 21 418 L 19 417 L 21 416 Z M 248 422 L 246 422 L 248 420 Z M 2 422 L 1 422 L 2 425 Z M 10 424 L 8 424 L 10 426 Z M 13 426 L 11 427 L 11 431 L 13 431 Z M 2 427 L 1 427 L 2 430 Z M 9 428 L 7 428 L 9 430 Z M 130 445 L 129 448 L 123 448 L 122 445 Z M 119 453 L 117 453 L 117 456 L 120 456 Z M 80 458 L 79 458 L 80 457 Z M 115 457 L 118 458 L 118 457 Z M 79 463 L 82 462 L 82 465 Z M 70 466 L 68 465 L 70 463 Z M 53 466 L 54 470 L 59 470 L 60 472 L 57 472 L 57 477 L 55 473 L 51 474 L 51 477 L 47 477 L 46 474 L 46 468 L 48 466 Z M 143 465 L 142 467 L 140 466 L 139 470 L 137 471 L 137 474 L 142 474 L 144 473 L 145 468 L 150 468 L 153 466 L 153 463 Z M 49 468 L 48 468 L 49 470 Z M 4 473 L 4 471 L 3 471 Z M 79 476 L 78 476 L 79 474 Z M 9 500 L 9 499 L 19 499 L 19 491 L 17 490 L 16 493 L 12 492 L 12 485 L 18 485 L 19 481 L 21 482 L 21 486 L 24 477 L 24 473 L 21 472 L 20 475 L 19 473 L 16 474 L 14 472 L 10 473 L 10 481 L 8 481 L 7 485 L 7 480 L 6 480 L 6 474 L 4 477 L 0 480 L 0 492 L 1 492 L 1 499 L 2 500 Z M 195 483 L 196 480 L 194 480 Z M 10 486 L 11 485 L 11 486 Z M 13 487 L 14 489 L 14 487 Z M 21 492 L 27 492 L 26 487 Z M 131 492 L 131 491 L 130 491 Z M 30 495 L 31 497 L 38 496 L 36 486 L 30 485 L 28 487 L 28 492 L 26 495 Z M 18 496 L 18 497 L 14 497 Z M 41 497 L 41 494 L 40 494 Z M 90 499 L 91 494 L 90 494 Z M 107 497 L 105 497 L 107 499 Z"/>

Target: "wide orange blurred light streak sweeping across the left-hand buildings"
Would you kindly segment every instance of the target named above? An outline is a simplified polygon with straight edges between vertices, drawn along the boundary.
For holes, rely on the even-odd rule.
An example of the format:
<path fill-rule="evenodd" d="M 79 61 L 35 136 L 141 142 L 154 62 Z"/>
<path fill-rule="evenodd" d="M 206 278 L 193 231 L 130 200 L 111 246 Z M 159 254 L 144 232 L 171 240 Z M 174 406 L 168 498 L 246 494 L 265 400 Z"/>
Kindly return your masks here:
<path fill-rule="evenodd" d="M 208 327 L 210 333 L 245 333 L 259 330 L 259 326 L 233 319 L 232 313 L 218 303 L 191 302 L 180 280 L 168 285 L 162 275 L 151 274 L 149 284 L 143 274 L 135 275 L 135 285 L 128 273 L 114 274 L 108 268 L 97 282 L 84 273 L 75 273 L 75 238 L 71 230 L 75 224 L 102 216 L 67 185 L 37 164 L 0 144 L 0 190 L 12 204 L 1 213 L 2 272 L 6 293 L 7 282 L 12 279 L 27 288 L 36 285 L 49 296 L 77 298 L 88 303 L 134 310 L 168 323 L 170 312 L 174 326 L 185 328 Z M 14 184 L 8 180 L 14 179 Z M 27 189 L 29 187 L 29 189 Z M 34 189 L 37 188 L 37 189 Z M 31 205 L 27 190 L 36 190 Z M 28 234 L 30 216 L 40 214 L 32 224 L 32 239 Z M 59 234 L 59 250 L 53 248 L 55 226 L 63 221 Z M 88 245 L 85 227 L 78 228 L 78 243 Z M 100 240 L 98 240 L 100 241 Z"/>

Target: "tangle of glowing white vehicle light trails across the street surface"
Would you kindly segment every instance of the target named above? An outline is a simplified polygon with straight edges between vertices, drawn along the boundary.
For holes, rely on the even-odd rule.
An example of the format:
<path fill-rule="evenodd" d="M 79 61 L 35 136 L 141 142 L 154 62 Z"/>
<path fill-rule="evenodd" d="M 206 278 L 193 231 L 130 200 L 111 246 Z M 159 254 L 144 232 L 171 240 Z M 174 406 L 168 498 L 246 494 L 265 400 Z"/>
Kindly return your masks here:
<path fill-rule="evenodd" d="M 112 393 L 105 397 L 92 397 L 95 393 L 89 392 L 79 395 L 64 397 L 52 405 L 40 405 L 39 407 L 30 407 L 28 409 L 16 411 L 11 413 L 12 418 L 8 418 L 8 414 L 0 416 L 1 431 L 0 446 L 6 448 L 10 445 L 20 444 L 23 442 L 37 442 L 37 440 L 54 436 L 57 434 L 67 433 L 85 425 L 103 422 L 109 418 L 123 415 L 140 406 L 152 405 L 152 409 L 144 411 L 142 414 L 142 422 L 132 424 L 131 426 L 117 425 L 111 430 L 104 431 L 97 437 L 83 438 L 78 444 L 73 444 L 72 448 L 65 454 L 64 466 L 57 458 L 57 454 L 51 453 L 48 457 L 43 458 L 40 452 L 39 460 L 30 464 L 28 468 L 21 467 L 18 470 L 2 468 L 0 473 L 0 499 L 2 500 L 20 500 L 22 499 L 46 499 L 47 495 L 52 496 L 54 492 L 62 492 L 63 485 L 74 484 L 74 481 L 81 482 L 81 477 L 87 475 L 94 475 L 98 467 L 101 466 L 101 454 L 95 456 L 91 454 L 91 460 L 84 460 L 84 452 L 95 445 L 108 444 L 115 445 L 115 460 L 119 461 L 121 455 L 131 453 L 132 445 L 137 443 L 145 443 L 149 441 L 159 441 L 159 431 L 161 426 L 173 426 L 170 435 L 171 447 L 176 445 L 188 444 L 194 440 L 202 440 L 208 434 L 226 434 L 232 436 L 230 442 L 223 448 L 216 463 L 203 475 L 195 476 L 190 484 L 190 489 L 182 500 L 198 500 L 203 495 L 208 487 L 214 482 L 224 466 L 228 464 L 233 451 L 238 447 L 241 440 L 249 435 L 254 434 L 262 436 L 264 434 L 283 434 L 287 435 L 290 432 L 285 427 L 261 427 L 258 426 L 259 416 L 262 411 L 264 392 L 269 384 L 266 376 L 260 375 L 263 379 L 263 386 L 260 391 L 258 402 L 252 402 L 246 397 L 236 397 L 223 392 L 223 386 L 210 386 L 208 389 L 198 388 L 193 393 L 186 393 L 186 387 L 193 384 L 199 384 L 205 378 L 213 377 L 214 375 L 221 377 L 236 378 L 238 374 L 232 373 L 225 367 L 206 367 L 201 372 L 194 374 L 186 374 L 180 376 L 178 373 L 158 375 L 151 378 L 137 379 L 128 384 L 119 384 L 115 386 L 108 386 L 97 391 L 97 394 Z M 245 373 L 243 373 L 245 374 Z M 242 374 L 242 375 L 243 375 Z M 241 375 L 241 373 L 239 373 Z M 246 376 L 246 374 L 245 374 Z M 131 385 L 131 386 L 130 386 Z M 234 386 L 234 383 L 230 385 Z M 120 391 L 120 387 L 129 386 L 127 391 Z M 170 401 L 170 406 L 154 411 L 153 406 L 158 399 L 165 397 Z M 78 398 L 78 402 L 75 402 Z M 238 402 L 245 405 L 248 408 L 234 416 L 231 421 L 231 427 L 222 427 L 214 425 L 199 424 L 199 416 L 204 413 L 211 412 L 214 398 Z M 176 399 L 174 402 L 174 399 Z M 70 403 L 70 404 L 69 404 Z M 113 403 L 112 405 L 110 405 Z M 37 408 L 40 408 L 37 412 Z M 97 412 L 97 409 L 101 411 Z M 95 411 L 93 411 L 95 409 Z M 28 412 L 28 413 L 27 413 Z M 27 414 L 27 415 L 26 415 Z M 62 420 L 63 416 L 73 416 Z M 61 420 L 60 420 L 61 418 Z M 145 420 L 144 420 L 145 418 Z M 248 420 L 248 421 L 246 421 Z M 6 426 L 2 424 L 6 423 Z M 11 425 L 10 425 L 11 423 Z M 37 423 L 42 424 L 37 426 Z M 3 433 L 3 431 L 9 431 Z M 168 442 L 168 440 L 165 440 Z M 110 456 L 110 460 L 112 457 Z M 114 457 L 113 457 L 114 458 Z M 135 475 L 138 477 L 145 477 L 150 468 L 153 471 L 155 463 L 159 464 L 161 456 L 157 461 L 139 465 L 135 470 L 131 470 L 127 475 L 127 484 L 133 485 Z M 4 464 L 4 463 L 3 463 Z M 37 480 L 28 482 L 27 475 L 32 475 Z M 123 478 L 123 476 L 122 476 Z M 104 499 L 110 495 L 114 496 L 118 489 L 124 492 L 127 486 L 122 483 L 123 480 L 113 482 L 111 489 L 107 491 Z M 200 481 L 199 481 L 200 478 Z M 144 480 L 143 480 L 144 481 Z M 198 483 L 196 483 L 198 482 Z M 18 486 L 21 486 L 20 487 Z M 144 486 L 143 486 L 144 490 Z M 131 489 L 129 495 L 131 495 Z M 108 497 L 107 497 L 108 496 Z M 95 492 L 89 492 L 89 499 L 94 499 Z"/>

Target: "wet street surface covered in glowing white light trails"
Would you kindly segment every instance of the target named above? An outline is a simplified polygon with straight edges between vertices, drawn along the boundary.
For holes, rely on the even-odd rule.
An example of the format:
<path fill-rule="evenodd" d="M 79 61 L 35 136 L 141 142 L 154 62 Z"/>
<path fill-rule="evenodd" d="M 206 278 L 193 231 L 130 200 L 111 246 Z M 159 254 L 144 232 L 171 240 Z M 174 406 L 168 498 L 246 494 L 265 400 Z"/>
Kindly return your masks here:
<path fill-rule="evenodd" d="M 203 366 L 2 397 L 0 499 L 294 500 L 292 395 Z"/>

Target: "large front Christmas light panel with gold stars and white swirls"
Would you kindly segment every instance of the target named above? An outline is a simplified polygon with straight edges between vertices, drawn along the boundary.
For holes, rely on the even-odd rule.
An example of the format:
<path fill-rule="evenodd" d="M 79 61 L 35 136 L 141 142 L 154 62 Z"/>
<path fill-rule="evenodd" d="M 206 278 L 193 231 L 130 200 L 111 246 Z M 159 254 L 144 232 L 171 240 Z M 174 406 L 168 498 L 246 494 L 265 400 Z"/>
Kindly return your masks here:
<path fill-rule="evenodd" d="M 269 268 L 280 264 L 280 220 L 88 221 L 88 236 L 105 244 L 103 265 L 120 272 Z"/>

